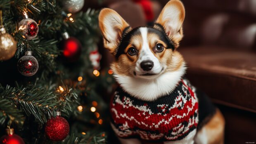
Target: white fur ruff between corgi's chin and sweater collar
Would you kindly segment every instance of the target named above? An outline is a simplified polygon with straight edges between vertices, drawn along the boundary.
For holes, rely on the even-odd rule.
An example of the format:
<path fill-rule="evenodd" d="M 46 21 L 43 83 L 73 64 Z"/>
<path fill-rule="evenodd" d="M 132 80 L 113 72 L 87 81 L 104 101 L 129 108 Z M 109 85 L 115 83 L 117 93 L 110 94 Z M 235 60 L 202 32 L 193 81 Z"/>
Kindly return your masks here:
<path fill-rule="evenodd" d="M 114 74 L 116 81 L 123 90 L 133 97 L 145 101 L 153 101 L 161 96 L 171 93 L 186 70 L 185 63 L 178 71 L 166 72 L 154 79 L 135 78 Z"/>

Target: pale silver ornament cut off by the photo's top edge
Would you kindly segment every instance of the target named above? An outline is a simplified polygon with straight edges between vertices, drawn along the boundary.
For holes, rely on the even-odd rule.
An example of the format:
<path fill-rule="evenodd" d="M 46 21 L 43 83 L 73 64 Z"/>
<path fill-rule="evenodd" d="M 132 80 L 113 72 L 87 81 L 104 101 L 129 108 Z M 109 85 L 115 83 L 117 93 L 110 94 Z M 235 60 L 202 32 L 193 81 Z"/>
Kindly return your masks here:
<path fill-rule="evenodd" d="M 84 0 L 64 0 L 64 9 L 70 13 L 75 13 L 83 8 Z"/>

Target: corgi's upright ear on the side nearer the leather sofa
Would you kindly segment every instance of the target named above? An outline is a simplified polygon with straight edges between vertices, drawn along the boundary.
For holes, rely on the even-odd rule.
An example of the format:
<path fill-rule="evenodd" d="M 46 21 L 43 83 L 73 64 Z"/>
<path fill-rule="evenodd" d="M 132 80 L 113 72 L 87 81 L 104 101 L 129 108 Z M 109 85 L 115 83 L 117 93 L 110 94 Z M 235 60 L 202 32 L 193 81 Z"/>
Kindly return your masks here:
<path fill-rule="evenodd" d="M 156 20 L 157 24 L 164 27 L 168 37 L 175 42 L 175 48 L 178 47 L 183 38 L 182 24 L 185 19 L 185 8 L 180 0 L 170 0 L 161 11 Z M 157 28 L 157 25 L 154 26 Z"/>

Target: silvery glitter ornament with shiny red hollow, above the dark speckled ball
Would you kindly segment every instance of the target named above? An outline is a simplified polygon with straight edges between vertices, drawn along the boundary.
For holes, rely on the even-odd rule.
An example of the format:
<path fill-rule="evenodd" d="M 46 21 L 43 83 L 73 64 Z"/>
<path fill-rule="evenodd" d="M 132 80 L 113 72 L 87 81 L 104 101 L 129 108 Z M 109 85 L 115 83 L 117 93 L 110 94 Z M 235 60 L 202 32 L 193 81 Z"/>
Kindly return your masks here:
<path fill-rule="evenodd" d="M 22 19 L 19 22 L 18 28 L 27 40 L 36 38 L 39 30 L 36 21 L 33 19 Z"/>

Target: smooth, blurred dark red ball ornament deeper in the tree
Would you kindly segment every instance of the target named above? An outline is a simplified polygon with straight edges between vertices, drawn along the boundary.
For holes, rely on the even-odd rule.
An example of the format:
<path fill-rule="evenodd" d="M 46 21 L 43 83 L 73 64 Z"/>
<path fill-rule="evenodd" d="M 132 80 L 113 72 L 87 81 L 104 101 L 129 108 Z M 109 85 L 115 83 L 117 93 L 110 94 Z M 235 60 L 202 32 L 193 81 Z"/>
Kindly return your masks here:
<path fill-rule="evenodd" d="M 81 55 L 82 46 L 76 38 L 68 38 L 61 44 L 63 56 L 69 62 L 77 61 Z"/>

